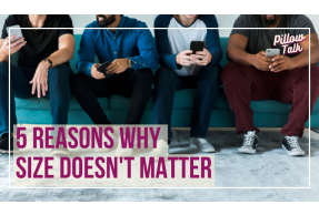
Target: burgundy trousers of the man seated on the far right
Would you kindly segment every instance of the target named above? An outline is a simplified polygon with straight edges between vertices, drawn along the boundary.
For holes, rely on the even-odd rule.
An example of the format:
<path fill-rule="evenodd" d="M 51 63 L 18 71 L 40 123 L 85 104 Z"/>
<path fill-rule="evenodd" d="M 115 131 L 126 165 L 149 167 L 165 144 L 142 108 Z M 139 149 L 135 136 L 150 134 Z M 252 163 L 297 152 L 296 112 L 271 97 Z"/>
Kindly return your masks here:
<path fill-rule="evenodd" d="M 288 123 L 281 134 L 302 137 L 309 119 L 309 66 L 282 72 L 263 72 L 252 65 L 229 62 L 222 70 L 221 80 L 230 109 L 236 115 L 237 134 L 259 130 L 253 126 L 251 101 L 277 100 L 292 104 Z M 319 68 L 310 65 L 310 111 L 319 95 Z M 311 113 L 310 112 L 310 113 Z"/>

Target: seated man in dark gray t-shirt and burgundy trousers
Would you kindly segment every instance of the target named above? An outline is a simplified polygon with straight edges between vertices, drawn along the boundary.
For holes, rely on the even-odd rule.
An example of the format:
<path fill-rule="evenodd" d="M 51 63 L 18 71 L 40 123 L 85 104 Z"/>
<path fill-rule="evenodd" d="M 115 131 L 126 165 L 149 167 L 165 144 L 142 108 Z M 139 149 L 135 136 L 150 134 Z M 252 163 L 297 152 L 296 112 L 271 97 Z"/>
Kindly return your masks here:
<path fill-rule="evenodd" d="M 282 147 L 289 155 L 305 155 L 298 137 L 302 137 L 309 119 L 309 96 L 312 112 L 319 95 L 319 45 L 311 21 L 302 14 L 247 14 L 240 16 L 233 27 L 273 28 L 233 29 L 229 38 L 227 54 L 232 61 L 223 68 L 221 80 L 236 114 L 237 134 L 243 133 L 243 144 L 238 151 L 256 153 L 259 130 L 253 126 L 250 101 L 277 100 L 292 104 L 289 121 L 280 131 L 285 135 Z M 276 28 L 310 28 L 310 34 L 308 29 Z M 293 40 L 297 37 L 299 41 Z M 266 57 L 267 49 L 279 49 L 280 54 Z"/>

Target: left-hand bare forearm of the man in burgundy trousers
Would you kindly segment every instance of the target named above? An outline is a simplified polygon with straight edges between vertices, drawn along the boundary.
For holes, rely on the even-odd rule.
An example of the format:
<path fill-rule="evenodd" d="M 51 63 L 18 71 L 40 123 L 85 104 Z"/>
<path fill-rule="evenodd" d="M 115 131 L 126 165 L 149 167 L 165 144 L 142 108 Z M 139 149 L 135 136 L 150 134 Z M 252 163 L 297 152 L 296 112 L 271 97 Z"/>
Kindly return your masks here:
<path fill-rule="evenodd" d="M 243 65 L 253 65 L 252 55 L 242 49 L 231 47 L 227 49 L 227 58 Z"/>

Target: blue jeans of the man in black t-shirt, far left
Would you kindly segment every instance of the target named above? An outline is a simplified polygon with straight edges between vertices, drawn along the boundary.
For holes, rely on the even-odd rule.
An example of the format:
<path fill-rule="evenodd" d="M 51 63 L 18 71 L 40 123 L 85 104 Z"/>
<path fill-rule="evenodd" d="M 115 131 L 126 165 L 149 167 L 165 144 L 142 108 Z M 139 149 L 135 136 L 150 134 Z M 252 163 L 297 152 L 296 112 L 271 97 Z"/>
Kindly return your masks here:
<path fill-rule="evenodd" d="M 37 96 L 31 94 L 32 80 L 36 68 L 18 68 L 11 65 L 10 84 L 10 125 L 9 125 L 9 63 L 0 62 L 0 136 L 13 132 L 17 124 L 14 98 L 28 99 Z M 46 93 L 50 98 L 52 124 L 67 124 L 70 103 L 69 79 L 73 73 L 68 65 L 61 64 L 49 70 L 48 85 Z M 42 93 L 41 93 L 42 94 Z"/>

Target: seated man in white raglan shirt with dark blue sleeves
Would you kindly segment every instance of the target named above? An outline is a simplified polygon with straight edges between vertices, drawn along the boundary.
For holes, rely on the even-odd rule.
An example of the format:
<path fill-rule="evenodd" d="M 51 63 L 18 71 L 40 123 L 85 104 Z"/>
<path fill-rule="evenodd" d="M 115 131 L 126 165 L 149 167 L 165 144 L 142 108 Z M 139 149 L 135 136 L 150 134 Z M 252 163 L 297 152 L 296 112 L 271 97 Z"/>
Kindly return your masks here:
<path fill-rule="evenodd" d="M 153 124 L 169 125 L 170 143 L 175 92 L 182 89 L 198 89 L 190 143 L 197 145 L 201 152 L 215 152 L 206 136 L 210 114 L 219 92 L 221 48 L 218 30 L 206 28 L 218 27 L 216 17 L 213 14 L 160 14 L 154 20 L 154 27 L 169 29 L 154 30 L 161 68 L 154 76 Z M 203 41 L 203 51 L 192 53 L 190 50 L 192 41 Z M 161 146 L 162 152 L 154 150 L 151 155 L 162 156 L 167 147 L 167 145 Z"/>

